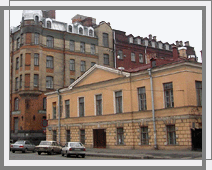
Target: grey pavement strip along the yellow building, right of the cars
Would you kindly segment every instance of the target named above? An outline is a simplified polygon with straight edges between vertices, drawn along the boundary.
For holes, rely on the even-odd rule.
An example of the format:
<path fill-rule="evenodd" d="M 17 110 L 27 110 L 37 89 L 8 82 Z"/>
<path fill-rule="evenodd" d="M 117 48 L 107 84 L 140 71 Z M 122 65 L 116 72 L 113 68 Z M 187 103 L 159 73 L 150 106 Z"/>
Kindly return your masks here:
<path fill-rule="evenodd" d="M 135 150 L 135 149 L 107 149 L 86 148 L 87 156 L 128 158 L 128 159 L 199 159 L 202 160 L 201 151 L 190 150 Z"/>

